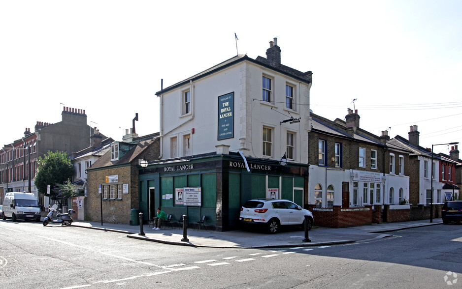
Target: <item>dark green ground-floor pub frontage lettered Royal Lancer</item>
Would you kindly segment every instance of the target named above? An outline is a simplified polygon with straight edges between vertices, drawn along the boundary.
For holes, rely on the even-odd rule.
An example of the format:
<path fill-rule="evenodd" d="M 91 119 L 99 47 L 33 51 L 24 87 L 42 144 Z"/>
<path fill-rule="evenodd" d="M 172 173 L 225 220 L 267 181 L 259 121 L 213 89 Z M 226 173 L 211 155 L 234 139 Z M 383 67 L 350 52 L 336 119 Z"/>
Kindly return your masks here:
<path fill-rule="evenodd" d="M 149 162 L 139 170 L 139 211 L 145 221 L 158 207 L 172 221 L 187 215 L 190 227 L 204 215 L 207 229 L 234 230 L 241 205 L 251 199 L 287 199 L 306 207 L 308 166 L 232 152 Z"/>

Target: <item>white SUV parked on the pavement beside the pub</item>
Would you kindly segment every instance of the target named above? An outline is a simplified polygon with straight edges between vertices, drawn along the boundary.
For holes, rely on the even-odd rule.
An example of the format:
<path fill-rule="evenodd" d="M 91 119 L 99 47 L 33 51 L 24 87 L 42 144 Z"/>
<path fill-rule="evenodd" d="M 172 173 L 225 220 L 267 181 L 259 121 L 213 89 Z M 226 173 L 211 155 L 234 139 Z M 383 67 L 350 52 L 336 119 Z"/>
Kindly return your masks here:
<path fill-rule="evenodd" d="M 239 221 L 244 225 L 265 226 L 271 233 L 277 233 L 281 226 L 305 226 L 308 215 L 308 230 L 313 226 L 313 214 L 289 200 L 253 199 L 241 207 Z"/>

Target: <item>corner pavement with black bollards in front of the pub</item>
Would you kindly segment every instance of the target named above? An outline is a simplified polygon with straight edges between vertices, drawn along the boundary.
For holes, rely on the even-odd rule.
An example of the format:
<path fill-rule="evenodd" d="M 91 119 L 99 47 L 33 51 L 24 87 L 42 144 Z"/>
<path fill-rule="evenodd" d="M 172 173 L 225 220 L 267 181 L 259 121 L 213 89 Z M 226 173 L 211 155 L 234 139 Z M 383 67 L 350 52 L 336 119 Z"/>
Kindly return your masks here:
<path fill-rule="evenodd" d="M 143 234 L 140 226 L 110 224 L 101 222 L 85 222 L 74 220 L 72 226 L 102 231 L 112 231 L 127 234 L 129 238 L 145 241 L 159 242 L 171 245 L 215 247 L 215 248 L 274 248 L 274 247 L 304 247 L 325 246 L 333 244 L 366 242 L 374 239 L 392 236 L 389 232 L 410 228 L 434 226 L 442 224 L 441 219 L 417 220 L 397 223 L 372 224 L 348 228 L 316 227 L 305 232 L 297 228 L 283 228 L 276 234 L 267 234 L 259 231 L 210 231 L 188 228 L 186 238 L 183 228 L 152 230 L 152 227 L 143 225 Z M 309 240 L 309 241 L 308 241 Z"/>

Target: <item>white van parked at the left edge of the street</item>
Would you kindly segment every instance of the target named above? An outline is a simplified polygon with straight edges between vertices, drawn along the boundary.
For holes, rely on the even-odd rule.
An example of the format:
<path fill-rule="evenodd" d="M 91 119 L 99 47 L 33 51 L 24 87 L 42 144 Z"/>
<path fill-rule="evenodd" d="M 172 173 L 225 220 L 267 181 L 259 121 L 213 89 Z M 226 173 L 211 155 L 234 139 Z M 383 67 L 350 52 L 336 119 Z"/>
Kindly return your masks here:
<path fill-rule="evenodd" d="M 6 218 L 11 218 L 13 222 L 16 222 L 17 219 L 40 222 L 40 207 L 37 197 L 33 193 L 6 193 L 1 218 L 3 221 Z"/>

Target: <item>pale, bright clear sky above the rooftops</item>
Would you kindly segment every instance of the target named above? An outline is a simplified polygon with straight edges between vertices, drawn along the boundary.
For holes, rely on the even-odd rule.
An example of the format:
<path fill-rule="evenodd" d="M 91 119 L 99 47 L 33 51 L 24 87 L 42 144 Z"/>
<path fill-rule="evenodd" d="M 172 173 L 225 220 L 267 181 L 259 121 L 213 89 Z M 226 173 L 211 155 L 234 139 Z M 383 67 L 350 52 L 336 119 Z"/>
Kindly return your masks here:
<path fill-rule="evenodd" d="M 159 131 L 155 92 L 228 58 L 313 72 L 310 108 L 420 144 L 462 141 L 462 1 L 0 1 L 0 145 L 63 105 L 122 140 Z M 356 101 L 353 103 L 353 99 Z M 460 146 L 462 148 L 462 144 Z M 447 146 L 435 147 L 448 153 Z"/>

